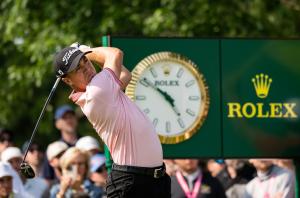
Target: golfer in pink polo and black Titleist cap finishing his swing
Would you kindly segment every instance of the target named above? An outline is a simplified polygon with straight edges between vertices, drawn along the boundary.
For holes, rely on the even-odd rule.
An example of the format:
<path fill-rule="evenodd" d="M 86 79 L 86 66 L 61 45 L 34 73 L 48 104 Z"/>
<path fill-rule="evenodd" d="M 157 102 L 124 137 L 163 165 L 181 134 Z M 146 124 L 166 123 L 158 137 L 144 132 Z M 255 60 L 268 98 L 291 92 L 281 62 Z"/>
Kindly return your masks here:
<path fill-rule="evenodd" d="M 92 62 L 101 67 L 97 73 Z M 107 179 L 108 197 L 170 197 L 162 147 L 143 112 L 124 94 L 131 73 L 123 52 L 112 47 L 66 47 L 55 57 L 56 75 L 72 89 L 79 105 L 108 146 L 114 164 Z"/>

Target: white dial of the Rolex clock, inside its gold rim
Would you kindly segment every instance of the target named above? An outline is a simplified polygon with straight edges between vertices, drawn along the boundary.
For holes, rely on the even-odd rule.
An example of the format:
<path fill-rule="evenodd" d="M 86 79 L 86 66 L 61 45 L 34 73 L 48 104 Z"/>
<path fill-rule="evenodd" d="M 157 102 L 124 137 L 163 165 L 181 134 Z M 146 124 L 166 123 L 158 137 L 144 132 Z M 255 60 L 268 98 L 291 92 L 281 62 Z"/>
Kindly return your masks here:
<path fill-rule="evenodd" d="M 164 69 L 170 73 L 166 75 Z M 145 83 L 145 79 L 155 87 Z M 195 122 L 202 104 L 200 87 L 196 82 L 188 69 L 171 61 L 156 62 L 140 76 L 135 101 L 142 110 L 146 110 L 144 112 L 155 124 L 159 135 L 181 134 Z M 168 94 L 174 100 L 174 106 L 157 89 Z"/>

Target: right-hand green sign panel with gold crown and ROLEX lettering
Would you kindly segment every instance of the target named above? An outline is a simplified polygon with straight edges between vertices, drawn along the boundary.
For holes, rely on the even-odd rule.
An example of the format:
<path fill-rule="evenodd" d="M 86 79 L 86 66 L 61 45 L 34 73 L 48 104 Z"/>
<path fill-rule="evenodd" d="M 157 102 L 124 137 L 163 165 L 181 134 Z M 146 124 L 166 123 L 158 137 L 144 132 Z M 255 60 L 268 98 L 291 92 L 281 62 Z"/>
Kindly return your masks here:
<path fill-rule="evenodd" d="M 222 40 L 224 156 L 300 156 L 299 50 L 298 40 Z"/>

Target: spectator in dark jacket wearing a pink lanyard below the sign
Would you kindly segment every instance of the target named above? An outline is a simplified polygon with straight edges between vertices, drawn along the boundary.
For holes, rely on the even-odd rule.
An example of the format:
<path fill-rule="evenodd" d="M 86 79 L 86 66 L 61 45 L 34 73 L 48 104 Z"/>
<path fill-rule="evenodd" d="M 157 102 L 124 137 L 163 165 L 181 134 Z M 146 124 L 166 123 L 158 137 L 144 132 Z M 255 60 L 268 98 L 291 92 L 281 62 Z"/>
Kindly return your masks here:
<path fill-rule="evenodd" d="M 209 173 L 203 172 L 197 159 L 176 159 L 178 166 L 175 176 L 171 177 L 172 198 L 226 197 L 219 181 Z"/>

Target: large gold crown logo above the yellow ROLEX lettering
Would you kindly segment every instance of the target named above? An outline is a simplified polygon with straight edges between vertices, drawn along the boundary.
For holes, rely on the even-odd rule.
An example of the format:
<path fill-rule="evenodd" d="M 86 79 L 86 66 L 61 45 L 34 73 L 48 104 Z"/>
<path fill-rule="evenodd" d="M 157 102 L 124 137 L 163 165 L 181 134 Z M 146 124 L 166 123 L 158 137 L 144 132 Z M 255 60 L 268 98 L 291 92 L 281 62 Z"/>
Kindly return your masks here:
<path fill-rule="evenodd" d="M 272 79 L 268 75 L 259 74 L 255 78 L 252 78 L 255 92 L 257 97 L 266 98 L 269 94 L 269 89 L 272 83 Z"/>

